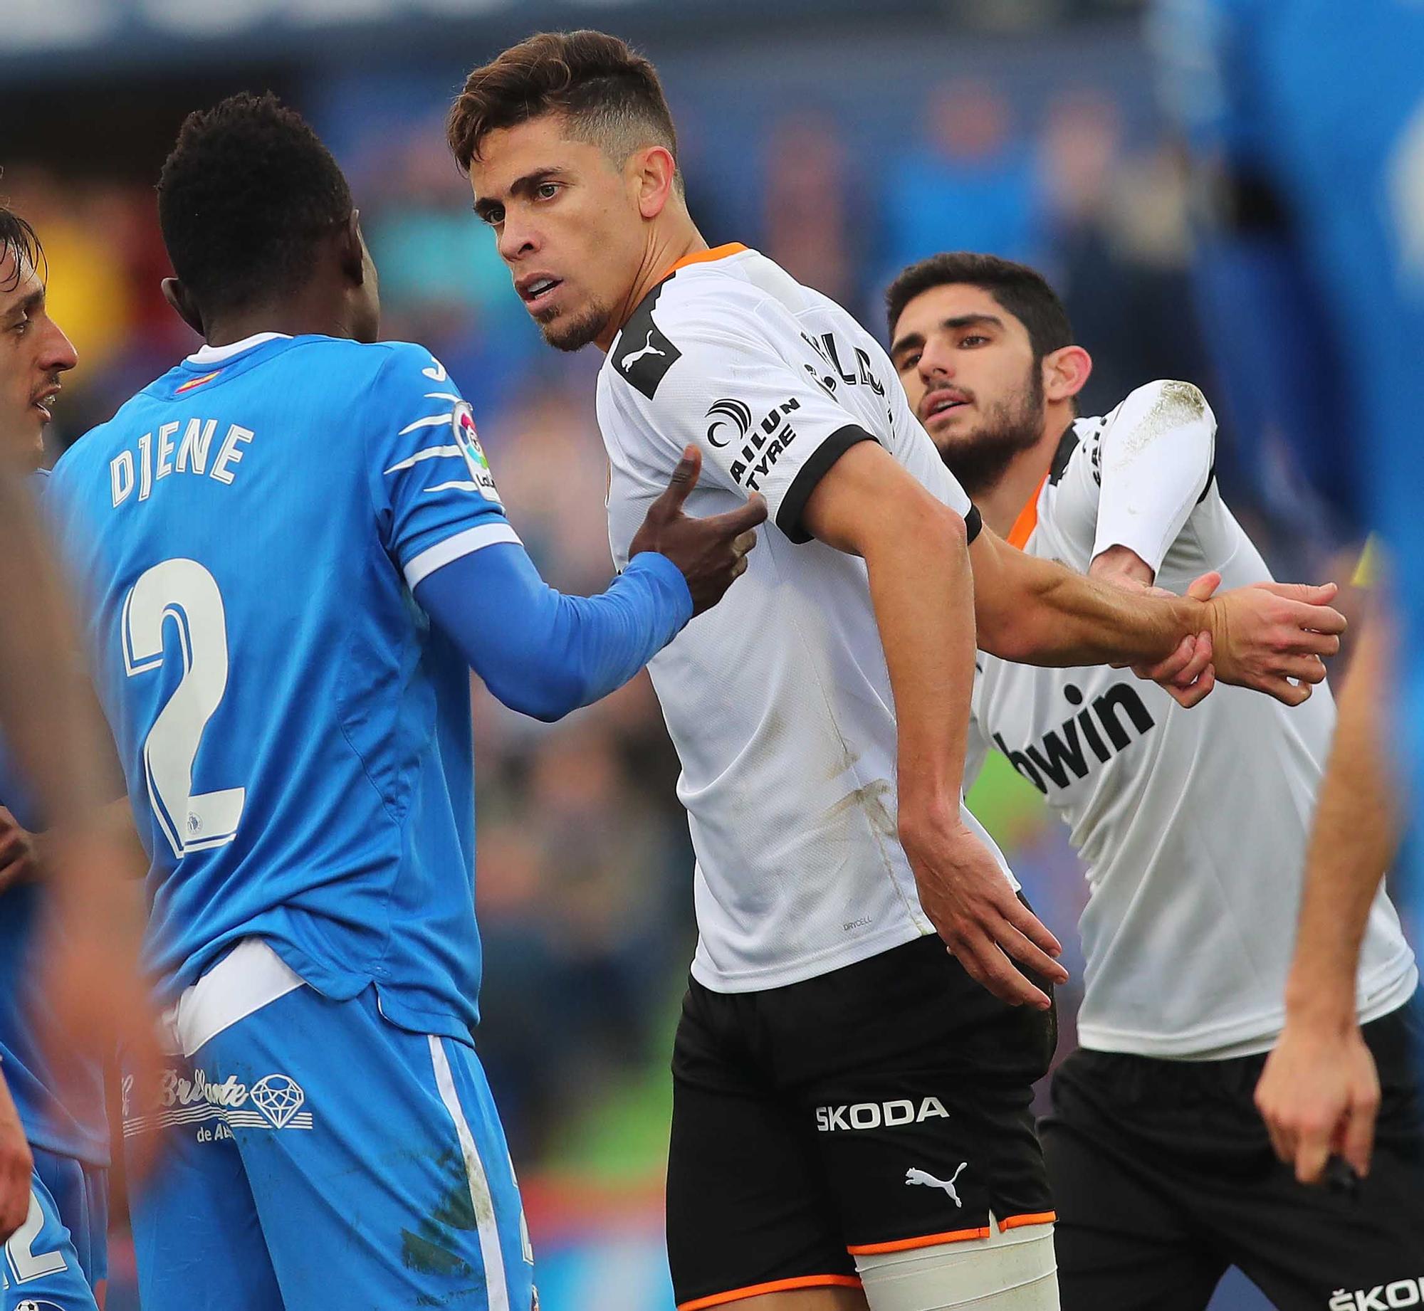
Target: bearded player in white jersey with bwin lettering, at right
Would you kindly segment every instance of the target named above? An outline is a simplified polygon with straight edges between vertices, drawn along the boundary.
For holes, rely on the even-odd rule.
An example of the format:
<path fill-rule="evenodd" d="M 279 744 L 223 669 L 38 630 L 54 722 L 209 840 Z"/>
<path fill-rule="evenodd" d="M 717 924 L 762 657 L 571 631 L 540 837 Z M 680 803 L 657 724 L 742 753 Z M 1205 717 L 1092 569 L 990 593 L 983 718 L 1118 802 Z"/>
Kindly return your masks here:
<path fill-rule="evenodd" d="M 910 401 L 1011 545 L 1129 588 L 1270 576 L 1222 500 L 1216 420 L 1195 386 L 1153 381 L 1094 418 L 1035 390 L 1040 349 L 1071 343 L 1037 272 L 941 255 L 901 273 L 889 309 Z M 1054 356 L 1087 381 L 1081 347 Z M 1230 1264 L 1287 1308 L 1424 1274 L 1424 1133 L 1404 1058 L 1418 969 L 1383 891 L 1357 1012 L 1388 1109 L 1358 1196 L 1297 1184 L 1252 1100 L 1284 1022 L 1333 727 L 1326 685 L 1294 707 L 1222 688 L 1183 709 L 1126 670 L 980 658 L 965 780 L 1004 753 L 1069 826 L 1089 884 L 1081 1051 L 1041 1126 L 1068 1311 L 1199 1311 Z"/>

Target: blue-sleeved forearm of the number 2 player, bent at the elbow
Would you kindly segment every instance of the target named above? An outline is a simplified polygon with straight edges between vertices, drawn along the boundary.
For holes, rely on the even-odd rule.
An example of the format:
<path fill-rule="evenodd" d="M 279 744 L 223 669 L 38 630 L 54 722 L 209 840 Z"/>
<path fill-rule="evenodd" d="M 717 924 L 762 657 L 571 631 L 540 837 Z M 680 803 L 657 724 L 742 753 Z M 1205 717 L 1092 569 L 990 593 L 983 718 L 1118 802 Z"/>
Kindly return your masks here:
<path fill-rule="evenodd" d="M 416 599 L 501 702 L 544 720 L 621 688 L 692 614 L 682 575 L 661 555 L 635 557 L 598 596 L 565 596 L 515 544 L 451 561 Z"/>

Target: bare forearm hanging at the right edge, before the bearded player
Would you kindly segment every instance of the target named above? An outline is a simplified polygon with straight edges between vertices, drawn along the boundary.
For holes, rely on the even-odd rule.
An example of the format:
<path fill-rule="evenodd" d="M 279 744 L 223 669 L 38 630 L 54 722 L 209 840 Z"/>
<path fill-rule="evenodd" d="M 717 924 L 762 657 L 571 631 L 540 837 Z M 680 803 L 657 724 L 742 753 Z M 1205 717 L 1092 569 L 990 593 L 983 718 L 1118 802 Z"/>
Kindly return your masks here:
<path fill-rule="evenodd" d="M 1306 851 L 1286 1008 L 1292 1018 L 1330 1026 L 1356 1023 L 1360 944 L 1400 843 L 1398 799 L 1384 769 L 1388 747 L 1380 715 L 1390 682 L 1390 639 L 1383 615 L 1360 636 Z"/>

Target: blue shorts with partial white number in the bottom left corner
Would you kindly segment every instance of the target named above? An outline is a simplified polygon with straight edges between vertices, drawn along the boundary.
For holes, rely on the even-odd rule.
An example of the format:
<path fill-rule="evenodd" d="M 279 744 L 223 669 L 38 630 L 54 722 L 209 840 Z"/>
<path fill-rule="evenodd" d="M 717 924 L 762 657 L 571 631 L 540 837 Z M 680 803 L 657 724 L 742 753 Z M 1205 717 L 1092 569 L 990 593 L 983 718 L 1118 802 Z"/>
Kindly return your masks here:
<path fill-rule="evenodd" d="M 97 1311 L 108 1277 L 108 1170 L 33 1149 L 30 1214 L 4 1246 L 0 1311 Z"/>

